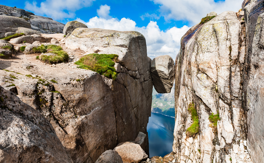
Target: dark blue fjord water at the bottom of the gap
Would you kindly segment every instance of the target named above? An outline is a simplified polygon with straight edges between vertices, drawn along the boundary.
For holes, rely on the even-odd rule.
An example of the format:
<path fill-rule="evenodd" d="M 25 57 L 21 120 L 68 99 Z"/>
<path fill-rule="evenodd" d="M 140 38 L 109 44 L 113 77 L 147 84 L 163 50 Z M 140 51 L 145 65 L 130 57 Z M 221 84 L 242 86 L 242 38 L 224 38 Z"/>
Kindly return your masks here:
<path fill-rule="evenodd" d="M 175 118 L 151 113 L 148 120 L 149 157 L 162 156 L 172 152 Z"/>

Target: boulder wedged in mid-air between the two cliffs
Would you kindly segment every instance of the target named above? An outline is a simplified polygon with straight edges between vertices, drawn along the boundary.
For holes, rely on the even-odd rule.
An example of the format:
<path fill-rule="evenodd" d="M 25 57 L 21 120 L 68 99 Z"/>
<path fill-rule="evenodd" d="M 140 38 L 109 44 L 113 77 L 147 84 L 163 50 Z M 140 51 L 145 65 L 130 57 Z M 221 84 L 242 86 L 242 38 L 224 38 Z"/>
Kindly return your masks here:
<path fill-rule="evenodd" d="M 151 61 L 151 77 L 158 93 L 170 93 L 175 78 L 175 66 L 172 57 L 161 55 Z"/>

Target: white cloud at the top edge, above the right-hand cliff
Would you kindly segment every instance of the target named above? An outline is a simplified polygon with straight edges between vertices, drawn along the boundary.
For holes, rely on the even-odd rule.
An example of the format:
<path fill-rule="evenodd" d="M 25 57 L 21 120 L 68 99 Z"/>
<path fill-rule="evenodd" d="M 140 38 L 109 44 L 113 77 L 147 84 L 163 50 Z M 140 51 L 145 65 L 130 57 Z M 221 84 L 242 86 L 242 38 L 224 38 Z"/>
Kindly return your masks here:
<path fill-rule="evenodd" d="M 159 4 L 161 15 L 165 20 L 184 20 L 196 24 L 209 12 L 221 14 L 224 11 L 235 11 L 241 8 L 243 0 L 151 0 Z"/>

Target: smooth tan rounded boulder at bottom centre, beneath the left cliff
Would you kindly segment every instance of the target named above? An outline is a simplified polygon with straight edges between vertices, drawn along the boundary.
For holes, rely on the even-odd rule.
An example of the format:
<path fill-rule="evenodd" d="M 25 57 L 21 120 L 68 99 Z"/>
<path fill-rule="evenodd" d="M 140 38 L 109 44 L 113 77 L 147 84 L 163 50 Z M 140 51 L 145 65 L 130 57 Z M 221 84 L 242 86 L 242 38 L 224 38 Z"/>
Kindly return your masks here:
<path fill-rule="evenodd" d="M 124 163 L 137 163 L 148 158 L 148 155 L 140 145 L 129 141 L 118 144 L 114 151 L 118 152 Z"/>

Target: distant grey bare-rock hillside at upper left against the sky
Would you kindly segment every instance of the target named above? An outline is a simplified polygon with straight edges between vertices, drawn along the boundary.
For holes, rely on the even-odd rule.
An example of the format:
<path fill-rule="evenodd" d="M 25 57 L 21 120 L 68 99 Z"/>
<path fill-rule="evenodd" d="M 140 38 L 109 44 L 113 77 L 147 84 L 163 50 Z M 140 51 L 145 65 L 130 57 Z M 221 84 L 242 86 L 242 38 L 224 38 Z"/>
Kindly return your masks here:
<path fill-rule="evenodd" d="M 1 17 L 2 15 L 4 16 L 9 16 L 9 19 L 15 19 L 15 21 L 10 21 L 9 19 L 6 19 L 6 17 Z M 5 18 L 4 20 L 2 20 Z M 6 22 L 8 23 L 6 23 Z M 27 22 L 26 25 L 25 23 L 21 24 L 18 23 L 16 24 L 17 27 L 24 27 L 24 28 L 30 28 L 33 29 L 34 31 L 39 31 L 40 33 L 62 33 L 64 24 L 52 20 L 52 18 L 46 18 L 43 16 L 37 16 L 34 15 L 32 12 L 25 11 L 21 8 L 13 8 L 5 5 L 0 5 L 0 22 L 2 24 L 8 25 L 10 28 L 17 28 L 15 26 L 10 26 L 10 22 Z M 5 27 L 0 23 L 0 36 L 1 36 L 1 27 Z M 8 32 L 15 32 L 15 29 L 12 31 L 9 30 Z M 22 33 L 22 32 L 16 32 L 16 33 Z M 25 33 L 26 34 L 26 33 Z M 32 33 L 30 34 L 32 35 Z"/>

